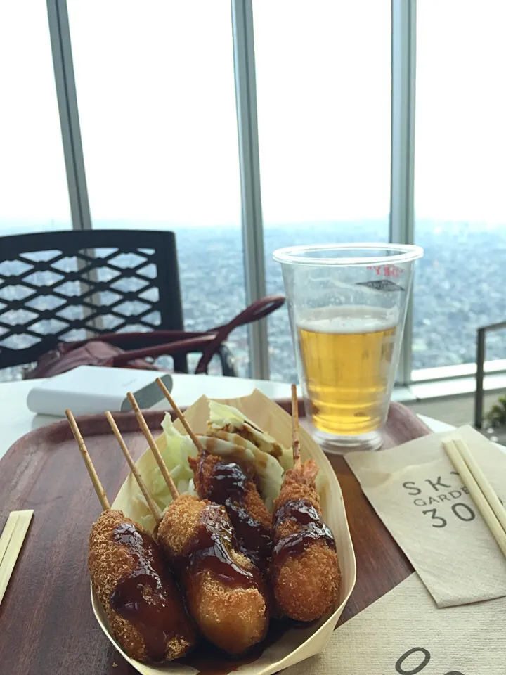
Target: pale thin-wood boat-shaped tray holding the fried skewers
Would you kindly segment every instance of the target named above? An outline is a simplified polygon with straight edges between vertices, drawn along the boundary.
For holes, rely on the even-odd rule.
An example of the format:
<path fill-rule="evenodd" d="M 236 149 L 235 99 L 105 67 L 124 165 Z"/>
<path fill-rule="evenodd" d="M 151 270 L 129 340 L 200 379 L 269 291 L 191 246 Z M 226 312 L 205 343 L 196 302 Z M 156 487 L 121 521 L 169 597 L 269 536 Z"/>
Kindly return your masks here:
<path fill-rule="evenodd" d="M 247 417 L 249 417 L 259 428 L 268 432 L 278 442 L 286 447 L 292 445 L 292 418 L 288 413 L 275 404 L 271 399 L 268 399 L 255 390 L 250 396 L 240 399 L 220 399 L 222 403 L 234 406 L 239 409 Z M 209 419 L 208 399 L 202 396 L 195 401 L 193 406 L 188 408 L 185 413 L 188 423 L 191 428 L 197 433 L 205 433 L 207 431 L 207 420 Z M 179 432 L 184 433 L 183 427 L 179 421 L 176 422 L 176 428 Z M 335 629 L 337 620 L 342 614 L 344 605 L 348 600 L 356 580 L 356 564 L 355 554 L 353 553 L 353 544 L 351 543 L 351 536 L 349 533 L 348 522 L 346 520 L 346 512 L 344 510 L 344 502 L 342 497 L 341 487 L 337 481 L 337 477 L 332 470 L 329 461 L 320 450 L 316 442 L 313 441 L 309 433 L 303 428 L 300 430 L 301 443 L 301 457 L 303 460 L 313 458 L 320 468 L 321 480 L 320 496 L 323 508 L 323 518 L 332 533 L 335 536 L 337 545 L 337 555 L 339 556 L 339 565 L 341 567 L 342 582 L 339 593 L 339 606 L 332 612 L 330 617 L 320 619 L 316 624 L 308 626 L 303 629 L 290 629 L 284 633 L 280 631 L 278 636 L 268 634 L 265 641 L 265 648 L 261 648 L 257 653 L 243 657 L 238 660 L 223 660 L 220 659 L 219 664 L 214 663 L 212 657 L 208 660 L 198 659 L 198 647 L 195 650 L 195 656 L 187 657 L 185 662 L 170 662 L 163 666 L 151 666 L 141 664 L 137 661 L 129 659 L 119 648 L 115 639 L 110 635 L 108 629 L 108 622 L 98 602 L 95 594 L 91 593 L 91 602 L 93 605 L 93 612 L 95 612 L 96 619 L 108 636 L 110 641 L 116 646 L 117 650 L 124 656 L 124 658 L 143 675 L 155 675 L 159 673 L 171 673 L 174 675 L 193 674 L 195 672 L 205 673 L 209 675 L 213 673 L 224 674 L 228 671 L 235 671 L 241 675 L 270 675 L 283 668 L 287 668 L 295 663 L 313 656 L 322 651 Z M 157 439 L 157 444 L 162 449 L 165 444 L 164 436 L 161 435 Z M 143 456 L 137 462 L 138 469 L 143 476 L 145 482 L 149 484 L 149 475 L 155 467 L 155 460 L 149 450 L 146 450 Z M 125 515 L 133 520 L 138 520 L 145 515 L 148 515 L 147 510 L 143 507 L 142 502 L 138 501 L 136 496 L 139 494 L 138 486 L 134 478 L 129 475 L 122 485 L 119 493 L 112 504 L 112 508 L 122 510 Z M 272 624 L 273 622 L 271 622 Z"/>

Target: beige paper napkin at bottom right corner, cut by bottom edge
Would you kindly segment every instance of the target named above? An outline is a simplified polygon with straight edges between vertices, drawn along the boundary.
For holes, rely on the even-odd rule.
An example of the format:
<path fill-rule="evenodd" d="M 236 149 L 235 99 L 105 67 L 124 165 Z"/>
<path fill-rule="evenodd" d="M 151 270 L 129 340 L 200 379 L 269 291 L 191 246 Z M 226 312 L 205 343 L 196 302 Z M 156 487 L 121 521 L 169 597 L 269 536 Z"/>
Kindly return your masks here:
<path fill-rule="evenodd" d="M 505 675 L 506 599 L 438 609 L 416 573 L 285 675 Z"/>

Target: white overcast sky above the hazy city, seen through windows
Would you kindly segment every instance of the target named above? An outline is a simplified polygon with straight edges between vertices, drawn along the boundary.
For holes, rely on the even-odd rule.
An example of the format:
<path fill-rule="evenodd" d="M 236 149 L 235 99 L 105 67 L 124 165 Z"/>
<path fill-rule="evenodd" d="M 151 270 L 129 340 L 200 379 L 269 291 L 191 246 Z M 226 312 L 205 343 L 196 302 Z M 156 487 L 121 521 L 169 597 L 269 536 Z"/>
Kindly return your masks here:
<path fill-rule="evenodd" d="M 238 224 L 230 2 L 67 2 L 93 218 Z M 390 7 L 254 0 L 266 224 L 387 216 Z M 417 20 L 417 216 L 506 224 L 506 3 Z M 68 221 L 44 1 L 1 1 L 0 64 L 0 222 Z"/>

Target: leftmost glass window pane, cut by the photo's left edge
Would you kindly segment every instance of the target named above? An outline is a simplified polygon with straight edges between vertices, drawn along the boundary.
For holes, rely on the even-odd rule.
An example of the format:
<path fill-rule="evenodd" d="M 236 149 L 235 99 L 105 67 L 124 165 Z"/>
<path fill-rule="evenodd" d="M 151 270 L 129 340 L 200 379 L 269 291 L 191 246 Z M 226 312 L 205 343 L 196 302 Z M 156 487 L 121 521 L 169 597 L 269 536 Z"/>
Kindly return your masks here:
<path fill-rule="evenodd" d="M 0 6 L 0 236 L 70 228 L 46 3 Z"/>

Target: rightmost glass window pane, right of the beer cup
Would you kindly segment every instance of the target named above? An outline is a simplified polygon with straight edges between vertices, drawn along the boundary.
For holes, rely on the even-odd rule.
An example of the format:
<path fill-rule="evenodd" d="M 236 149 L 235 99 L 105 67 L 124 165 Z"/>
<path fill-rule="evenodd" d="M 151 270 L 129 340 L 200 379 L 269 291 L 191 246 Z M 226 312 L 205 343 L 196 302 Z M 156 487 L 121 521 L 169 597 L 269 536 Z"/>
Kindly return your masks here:
<path fill-rule="evenodd" d="M 506 319 L 505 22 L 500 1 L 418 4 L 413 368 L 474 362 L 476 328 Z"/>

